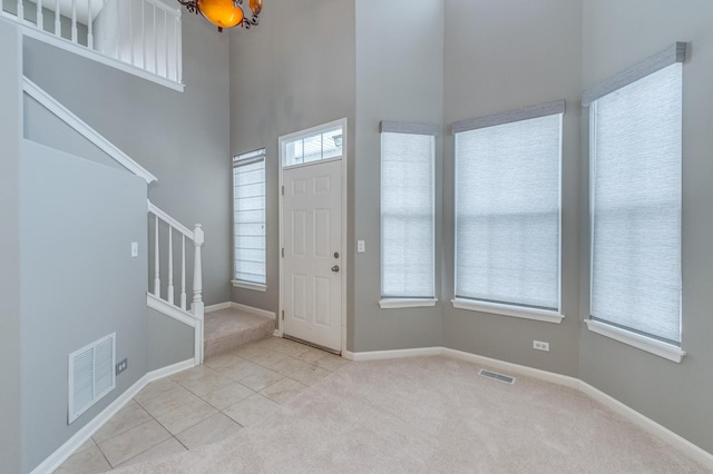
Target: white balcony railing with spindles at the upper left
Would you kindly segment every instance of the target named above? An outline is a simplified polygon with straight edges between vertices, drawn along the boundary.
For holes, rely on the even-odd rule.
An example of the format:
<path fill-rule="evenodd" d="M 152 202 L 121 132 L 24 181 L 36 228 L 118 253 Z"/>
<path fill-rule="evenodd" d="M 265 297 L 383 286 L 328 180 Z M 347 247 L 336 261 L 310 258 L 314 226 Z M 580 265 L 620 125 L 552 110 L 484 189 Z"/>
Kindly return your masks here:
<path fill-rule="evenodd" d="M 31 36 L 183 90 L 180 9 L 160 0 L 2 0 Z"/>

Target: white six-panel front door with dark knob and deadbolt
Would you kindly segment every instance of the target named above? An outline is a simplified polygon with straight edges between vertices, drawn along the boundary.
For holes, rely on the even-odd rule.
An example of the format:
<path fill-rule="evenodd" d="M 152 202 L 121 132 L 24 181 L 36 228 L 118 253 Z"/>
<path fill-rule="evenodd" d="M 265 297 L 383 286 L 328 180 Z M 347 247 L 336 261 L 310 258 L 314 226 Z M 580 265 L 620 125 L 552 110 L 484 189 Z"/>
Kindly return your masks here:
<path fill-rule="evenodd" d="M 284 170 L 283 334 L 342 349 L 342 161 Z"/>

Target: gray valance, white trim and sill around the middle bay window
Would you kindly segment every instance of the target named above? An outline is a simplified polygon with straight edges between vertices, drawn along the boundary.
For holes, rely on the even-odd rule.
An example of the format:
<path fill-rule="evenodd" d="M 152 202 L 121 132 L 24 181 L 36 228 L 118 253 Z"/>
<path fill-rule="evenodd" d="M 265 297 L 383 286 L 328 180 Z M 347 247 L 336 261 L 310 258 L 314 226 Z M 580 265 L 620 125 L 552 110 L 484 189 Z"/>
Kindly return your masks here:
<path fill-rule="evenodd" d="M 536 106 L 524 107 L 521 109 L 508 110 L 499 113 L 494 113 L 485 117 L 477 117 L 466 120 L 456 121 L 451 125 L 451 135 L 455 137 L 453 154 L 455 154 L 455 171 L 458 169 L 457 152 L 458 152 L 458 134 L 477 130 L 480 128 L 496 127 L 499 125 L 512 124 L 522 120 L 530 120 L 540 117 L 559 116 L 559 171 L 558 171 L 558 201 L 559 201 L 559 231 L 558 231 L 558 251 L 557 251 L 557 266 L 558 266 L 558 280 L 557 280 L 557 309 L 540 309 L 527 306 L 518 306 L 515 304 L 506 303 L 491 303 L 478 300 L 475 298 L 468 298 L 455 295 L 451 299 L 451 304 L 455 308 L 466 309 L 471 312 L 488 313 L 501 316 L 518 317 L 522 319 L 539 320 L 544 323 L 560 324 L 565 318 L 563 313 L 561 302 L 561 280 L 563 280 L 563 265 L 561 265 L 561 246 L 563 246 L 563 157 L 564 157 L 564 118 L 566 113 L 566 100 L 554 100 Z M 457 189 L 453 186 L 453 197 L 457 199 Z M 458 213 L 453 210 L 453 256 L 456 256 L 458 249 Z M 453 266 L 453 288 L 458 276 L 456 274 L 456 266 Z"/>

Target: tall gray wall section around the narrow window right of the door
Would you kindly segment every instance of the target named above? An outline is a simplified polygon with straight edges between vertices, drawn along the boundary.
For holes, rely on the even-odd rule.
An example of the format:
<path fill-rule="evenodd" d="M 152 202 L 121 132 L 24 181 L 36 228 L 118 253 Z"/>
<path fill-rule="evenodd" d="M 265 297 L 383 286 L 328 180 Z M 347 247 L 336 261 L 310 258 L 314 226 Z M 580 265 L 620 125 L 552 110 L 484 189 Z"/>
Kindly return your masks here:
<path fill-rule="evenodd" d="M 353 259 L 350 348 L 383 350 L 441 345 L 439 292 L 442 225 L 442 139 L 436 152 L 436 288 L 430 308 L 381 309 L 381 120 L 443 120 L 443 1 L 356 2 L 356 135 L 354 236 L 367 251 Z M 440 293 L 440 294 L 439 294 Z"/>

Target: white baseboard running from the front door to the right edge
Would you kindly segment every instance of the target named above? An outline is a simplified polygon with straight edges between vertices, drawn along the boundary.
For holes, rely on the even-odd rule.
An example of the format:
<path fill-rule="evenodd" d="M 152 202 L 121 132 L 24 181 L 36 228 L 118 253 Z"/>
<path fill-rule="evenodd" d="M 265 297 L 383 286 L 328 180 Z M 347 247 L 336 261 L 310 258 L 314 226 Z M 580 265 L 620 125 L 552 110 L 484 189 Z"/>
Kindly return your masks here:
<path fill-rule="evenodd" d="M 686 456 L 693 458 L 697 463 L 713 470 L 713 454 L 703 450 L 700 446 L 691 443 L 686 438 L 677 435 L 671 429 L 666 428 L 663 425 L 654 422 L 653 419 L 642 415 L 634 408 L 625 405 L 624 403 L 617 401 L 611 395 L 605 394 L 598 388 L 593 387 L 586 382 L 569 377 L 567 375 L 555 374 L 553 372 L 540 371 L 538 368 L 527 367 L 519 364 L 512 364 L 505 361 L 499 361 L 495 358 L 489 358 L 485 356 L 480 356 L 477 354 L 470 354 L 462 350 L 451 349 L 448 347 L 421 347 L 421 348 L 411 348 L 411 349 L 394 349 L 394 350 L 372 350 L 372 352 L 362 352 L 362 353 L 353 353 L 349 350 L 343 352 L 344 358 L 350 361 L 383 361 L 390 358 L 401 358 L 401 357 L 414 357 L 414 356 L 433 356 L 433 355 L 443 355 L 447 357 L 453 357 L 461 361 L 471 362 L 473 364 L 482 364 L 492 368 L 497 368 L 500 371 L 507 371 L 519 375 L 529 376 L 533 378 L 537 378 L 539 381 L 549 382 L 553 384 L 566 386 L 569 388 L 575 388 L 583 394 L 587 395 L 595 402 L 606 406 L 612 409 L 619 416 L 623 416 L 628 422 L 635 424 L 639 428 L 645 432 L 656 436 L 662 440 L 664 443 L 673 446 L 678 450 Z"/>

